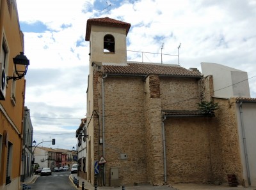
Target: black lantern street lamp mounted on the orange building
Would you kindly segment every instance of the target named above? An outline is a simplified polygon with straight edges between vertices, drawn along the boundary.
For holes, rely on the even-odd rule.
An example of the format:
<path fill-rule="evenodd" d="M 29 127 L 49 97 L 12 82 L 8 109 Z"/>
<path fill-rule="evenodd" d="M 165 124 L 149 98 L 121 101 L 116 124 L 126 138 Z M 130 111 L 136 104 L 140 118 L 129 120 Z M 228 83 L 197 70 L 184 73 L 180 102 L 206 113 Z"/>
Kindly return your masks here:
<path fill-rule="evenodd" d="M 16 55 L 13 58 L 13 63 L 15 66 L 15 73 L 17 77 L 6 77 L 6 80 L 19 80 L 24 77 L 28 71 L 29 59 L 24 55 L 24 52 L 20 52 L 20 55 Z"/>

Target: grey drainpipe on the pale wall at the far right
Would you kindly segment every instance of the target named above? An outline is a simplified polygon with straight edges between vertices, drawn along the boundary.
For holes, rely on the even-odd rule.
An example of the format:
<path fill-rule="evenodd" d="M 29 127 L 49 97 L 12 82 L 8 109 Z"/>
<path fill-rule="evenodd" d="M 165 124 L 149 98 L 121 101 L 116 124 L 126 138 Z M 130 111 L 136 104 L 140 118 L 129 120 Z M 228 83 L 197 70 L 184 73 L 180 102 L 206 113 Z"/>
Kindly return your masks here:
<path fill-rule="evenodd" d="M 243 135 L 244 157 L 245 157 L 245 164 L 246 164 L 246 172 L 247 172 L 247 178 L 248 178 L 248 185 L 251 186 L 250 168 L 249 168 L 249 162 L 248 162 L 248 154 L 247 154 L 247 147 L 246 147 L 246 138 L 245 138 L 245 133 L 244 133 L 244 122 L 243 122 L 243 109 L 242 109 L 242 105 L 243 105 L 243 103 L 240 102 L 240 104 L 239 104 L 239 111 L 240 111 L 241 129 L 242 129 L 242 135 Z"/>

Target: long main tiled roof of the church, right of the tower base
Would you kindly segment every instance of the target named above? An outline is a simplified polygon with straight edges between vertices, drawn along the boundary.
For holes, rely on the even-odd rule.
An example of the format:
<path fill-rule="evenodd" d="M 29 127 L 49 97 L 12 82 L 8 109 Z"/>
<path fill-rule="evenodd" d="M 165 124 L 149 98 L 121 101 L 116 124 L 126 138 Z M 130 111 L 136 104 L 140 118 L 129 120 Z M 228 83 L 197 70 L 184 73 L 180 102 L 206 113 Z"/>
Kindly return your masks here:
<path fill-rule="evenodd" d="M 199 71 L 192 71 L 180 66 L 168 64 L 143 64 L 143 63 L 127 63 L 127 65 L 103 65 L 104 74 L 119 75 L 169 75 L 173 77 L 196 77 L 202 75 Z"/>

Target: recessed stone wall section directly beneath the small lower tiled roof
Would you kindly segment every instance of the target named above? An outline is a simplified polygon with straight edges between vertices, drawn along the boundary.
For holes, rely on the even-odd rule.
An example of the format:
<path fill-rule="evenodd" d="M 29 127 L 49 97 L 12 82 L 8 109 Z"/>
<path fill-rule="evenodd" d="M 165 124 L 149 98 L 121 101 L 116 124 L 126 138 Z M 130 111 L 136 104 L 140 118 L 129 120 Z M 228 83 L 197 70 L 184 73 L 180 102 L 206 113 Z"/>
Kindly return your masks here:
<path fill-rule="evenodd" d="M 164 128 L 168 183 L 211 182 L 218 160 L 211 119 L 170 117 Z"/>

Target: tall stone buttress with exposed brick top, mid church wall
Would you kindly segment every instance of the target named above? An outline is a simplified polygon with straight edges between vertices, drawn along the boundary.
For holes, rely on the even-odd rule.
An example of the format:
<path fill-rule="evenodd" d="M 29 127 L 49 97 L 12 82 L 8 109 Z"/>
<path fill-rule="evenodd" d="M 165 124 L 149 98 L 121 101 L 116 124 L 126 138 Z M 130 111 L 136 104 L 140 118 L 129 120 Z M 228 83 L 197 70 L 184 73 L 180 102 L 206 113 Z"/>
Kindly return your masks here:
<path fill-rule="evenodd" d="M 160 80 L 149 75 L 145 81 L 145 136 L 147 179 L 150 184 L 164 183 L 163 133 L 161 122 Z"/>

